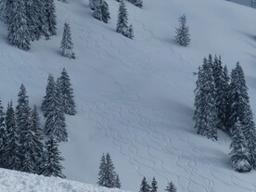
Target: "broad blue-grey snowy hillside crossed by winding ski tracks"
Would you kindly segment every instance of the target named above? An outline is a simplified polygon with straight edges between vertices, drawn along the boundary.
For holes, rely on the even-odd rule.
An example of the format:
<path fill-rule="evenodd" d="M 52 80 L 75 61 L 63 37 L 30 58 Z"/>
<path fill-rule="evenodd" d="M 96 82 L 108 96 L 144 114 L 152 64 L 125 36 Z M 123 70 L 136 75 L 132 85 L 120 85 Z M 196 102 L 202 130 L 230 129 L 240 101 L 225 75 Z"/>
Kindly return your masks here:
<path fill-rule="evenodd" d="M 57 78 L 65 67 L 78 111 L 67 116 L 69 142 L 60 145 L 68 179 L 96 184 L 100 157 L 109 152 L 122 189 L 138 191 L 143 176 L 149 182 L 155 176 L 159 191 L 170 181 L 179 192 L 256 191 L 255 171 L 232 170 L 229 137 L 219 132 L 212 142 L 194 133 L 192 120 L 193 72 L 208 54 L 221 55 L 229 70 L 240 61 L 256 111 L 255 9 L 224 0 L 144 0 L 143 9 L 126 2 L 134 26 L 130 40 L 115 32 L 119 4 L 108 4 L 106 24 L 92 17 L 87 1 L 56 1 L 58 35 L 32 43 L 29 52 L 8 45 L 1 24 L 5 106 L 17 100 L 20 83 L 30 104 L 40 106 L 48 73 Z M 191 33 L 187 47 L 173 39 L 183 14 Z M 64 22 L 70 23 L 75 60 L 60 56 Z"/>

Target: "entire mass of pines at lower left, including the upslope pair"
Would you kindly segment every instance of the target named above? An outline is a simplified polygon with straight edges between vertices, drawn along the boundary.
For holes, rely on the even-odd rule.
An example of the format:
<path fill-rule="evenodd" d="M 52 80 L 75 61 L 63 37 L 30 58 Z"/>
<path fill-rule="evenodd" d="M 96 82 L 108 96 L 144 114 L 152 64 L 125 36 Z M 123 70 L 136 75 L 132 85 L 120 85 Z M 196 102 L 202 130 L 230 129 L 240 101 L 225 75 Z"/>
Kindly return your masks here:
<path fill-rule="evenodd" d="M 44 128 L 36 106 L 30 108 L 23 83 L 16 109 L 10 101 L 5 112 L 0 101 L 1 168 L 65 178 L 60 164 L 64 159 L 58 151 L 58 142 L 68 140 L 64 114 L 74 115 L 76 110 L 67 71 L 62 70 L 57 84 L 52 81 L 52 75 L 49 77 L 51 81 L 46 86 L 42 104 Z"/>

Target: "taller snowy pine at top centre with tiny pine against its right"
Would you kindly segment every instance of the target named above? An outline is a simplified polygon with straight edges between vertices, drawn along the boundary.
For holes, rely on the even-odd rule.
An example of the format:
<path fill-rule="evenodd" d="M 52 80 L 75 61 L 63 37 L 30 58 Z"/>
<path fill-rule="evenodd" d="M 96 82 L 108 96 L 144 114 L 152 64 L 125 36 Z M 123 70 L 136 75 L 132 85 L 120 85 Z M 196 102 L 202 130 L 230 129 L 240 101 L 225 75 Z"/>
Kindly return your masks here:
<path fill-rule="evenodd" d="M 116 32 L 122 33 L 123 35 L 127 35 L 127 29 L 128 29 L 127 25 L 128 25 L 127 10 L 123 0 L 121 0 L 120 6 L 119 6 Z"/>

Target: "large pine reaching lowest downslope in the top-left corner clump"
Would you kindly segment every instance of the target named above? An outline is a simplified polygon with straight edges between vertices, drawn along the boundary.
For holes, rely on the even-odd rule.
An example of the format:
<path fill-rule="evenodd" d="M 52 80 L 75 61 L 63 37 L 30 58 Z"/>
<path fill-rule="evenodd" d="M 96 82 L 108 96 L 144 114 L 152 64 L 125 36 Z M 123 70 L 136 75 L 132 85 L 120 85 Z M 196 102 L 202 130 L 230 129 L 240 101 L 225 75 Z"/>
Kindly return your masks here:
<path fill-rule="evenodd" d="M 29 19 L 26 15 L 26 6 L 23 0 L 14 0 L 13 11 L 11 11 L 8 19 L 9 43 L 22 50 L 30 50 Z"/>

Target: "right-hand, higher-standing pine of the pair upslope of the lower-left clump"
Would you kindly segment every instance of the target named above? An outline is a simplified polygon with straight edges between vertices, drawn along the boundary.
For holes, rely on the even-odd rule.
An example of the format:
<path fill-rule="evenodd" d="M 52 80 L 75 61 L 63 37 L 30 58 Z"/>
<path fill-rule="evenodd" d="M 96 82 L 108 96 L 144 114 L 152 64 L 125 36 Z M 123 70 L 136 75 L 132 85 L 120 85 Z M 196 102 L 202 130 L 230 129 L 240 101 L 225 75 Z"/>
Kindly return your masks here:
<path fill-rule="evenodd" d="M 59 77 L 59 89 L 62 97 L 62 105 L 64 112 L 69 115 L 74 115 L 76 113 L 73 89 L 70 83 L 70 76 L 67 70 L 64 68 Z"/>

